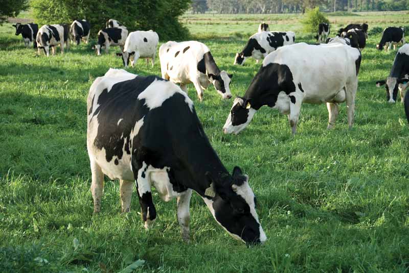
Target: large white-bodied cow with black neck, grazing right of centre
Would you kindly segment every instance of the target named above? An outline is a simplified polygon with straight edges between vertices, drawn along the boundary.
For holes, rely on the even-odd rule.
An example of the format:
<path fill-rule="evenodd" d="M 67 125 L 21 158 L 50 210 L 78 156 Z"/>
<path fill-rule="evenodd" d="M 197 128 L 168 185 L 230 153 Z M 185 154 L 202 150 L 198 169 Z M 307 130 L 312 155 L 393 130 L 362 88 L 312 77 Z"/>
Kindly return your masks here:
<path fill-rule="evenodd" d="M 345 101 L 351 128 L 360 61 L 359 49 L 341 43 L 297 43 L 279 48 L 264 59 L 244 96 L 234 101 L 224 133 L 238 134 L 257 110 L 267 105 L 288 115 L 295 134 L 302 103 L 327 103 L 328 129 L 332 129 L 338 104 Z"/>

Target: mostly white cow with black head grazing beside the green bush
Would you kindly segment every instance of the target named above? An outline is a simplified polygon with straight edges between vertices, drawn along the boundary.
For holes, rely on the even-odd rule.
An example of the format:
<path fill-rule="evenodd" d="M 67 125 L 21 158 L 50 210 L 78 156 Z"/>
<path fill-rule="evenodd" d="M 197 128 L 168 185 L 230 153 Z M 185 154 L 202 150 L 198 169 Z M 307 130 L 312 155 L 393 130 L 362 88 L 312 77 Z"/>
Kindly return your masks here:
<path fill-rule="evenodd" d="M 139 58 L 146 58 L 146 63 L 148 63 L 149 58 L 151 58 L 151 64 L 153 66 L 158 42 L 159 36 L 152 30 L 131 32 L 125 40 L 124 51 L 117 53 L 117 56 L 122 57 L 122 62 L 125 67 L 128 67 L 129 60 L 133 67 Z"/>

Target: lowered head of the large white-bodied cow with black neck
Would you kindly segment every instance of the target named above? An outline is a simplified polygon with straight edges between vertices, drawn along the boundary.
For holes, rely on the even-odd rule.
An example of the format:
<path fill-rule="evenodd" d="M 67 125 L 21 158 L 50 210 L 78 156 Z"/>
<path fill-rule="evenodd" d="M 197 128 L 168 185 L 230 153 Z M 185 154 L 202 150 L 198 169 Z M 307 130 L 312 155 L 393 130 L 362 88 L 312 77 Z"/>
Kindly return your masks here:
<path fill-rule="evenodd" d="M 256 109 L 252 108 L 251 99 L 237 97 L 233 102 L 230 114 L 224 123 L 223 131 L 225 134 L 238 134 L 243 131 L 252 121 Z"/>

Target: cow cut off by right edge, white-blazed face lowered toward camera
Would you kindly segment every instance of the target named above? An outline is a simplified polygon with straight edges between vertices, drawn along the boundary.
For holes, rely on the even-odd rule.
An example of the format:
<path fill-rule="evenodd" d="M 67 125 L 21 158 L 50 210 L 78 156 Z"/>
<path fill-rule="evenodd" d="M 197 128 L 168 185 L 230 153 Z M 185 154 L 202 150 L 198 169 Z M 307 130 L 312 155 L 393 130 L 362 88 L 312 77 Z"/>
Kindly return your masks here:
<path fill-rule="evenodd" d="M 400 93 L 400 100 L 403 103 L 404 92 L 409 86 L 409 44 L 404 44 L 399 48 L 396 54 L 395 61 L 389 77 L 386 80 L 377 81 L 376 86 L 380 87 L 385 85 L 387 91 L 387 100 L 389 103 L 395 103 Z"/>

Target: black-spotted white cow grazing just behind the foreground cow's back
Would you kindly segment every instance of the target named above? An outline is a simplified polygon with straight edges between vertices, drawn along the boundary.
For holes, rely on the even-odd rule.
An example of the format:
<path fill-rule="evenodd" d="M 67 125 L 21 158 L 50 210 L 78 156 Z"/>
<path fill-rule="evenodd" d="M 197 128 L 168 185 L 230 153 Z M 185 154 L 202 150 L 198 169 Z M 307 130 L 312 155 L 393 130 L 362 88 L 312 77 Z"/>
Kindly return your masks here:
<path fill-rule="evenodd" d="M 198 41 L 169 41 L 159 48 L 162 78 L 180 84 L 186 92 L 186 85 L 193 83 L 199 100 L 203 100 L 203 90 L 213 83 L 223 98 L 231 98 L 232 75 L 220 70 L 213 59 L 209 47 Z"/>

